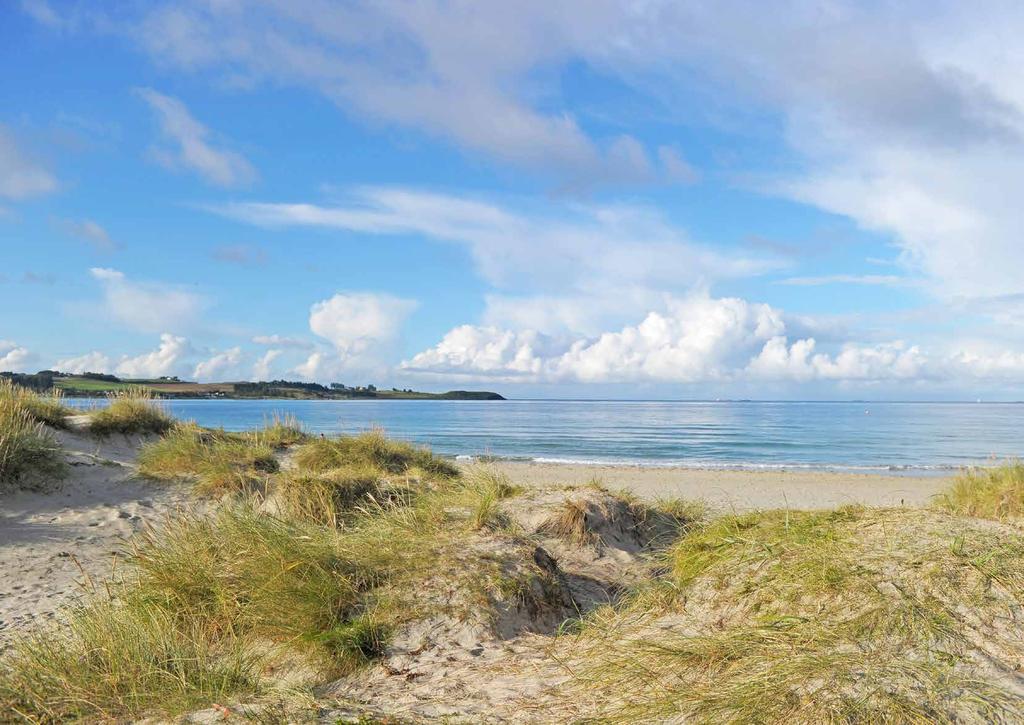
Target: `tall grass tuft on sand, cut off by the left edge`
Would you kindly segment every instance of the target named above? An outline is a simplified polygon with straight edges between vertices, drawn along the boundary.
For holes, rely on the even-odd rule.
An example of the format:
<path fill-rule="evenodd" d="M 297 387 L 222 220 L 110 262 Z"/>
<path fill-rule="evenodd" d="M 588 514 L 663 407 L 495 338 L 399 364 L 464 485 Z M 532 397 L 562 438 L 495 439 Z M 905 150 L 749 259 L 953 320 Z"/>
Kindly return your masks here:
<path fill-rule="evenodd" d="M 16 397 L 0 396 L 0 488 L 63 476 L 60 445 Z"/>

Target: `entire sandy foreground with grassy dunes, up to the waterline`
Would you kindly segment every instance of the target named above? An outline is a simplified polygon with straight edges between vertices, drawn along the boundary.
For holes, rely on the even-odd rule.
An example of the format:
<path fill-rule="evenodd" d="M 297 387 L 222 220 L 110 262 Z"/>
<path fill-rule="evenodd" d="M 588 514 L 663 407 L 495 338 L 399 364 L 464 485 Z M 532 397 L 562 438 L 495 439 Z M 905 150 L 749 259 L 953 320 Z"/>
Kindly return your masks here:
<path fill-rule="evenodd" d="M 1024 467 L 471 461 L 6 395 L 41 446 L 0 486 L 0 710 L 29 720 L 1022 712 Z"/>

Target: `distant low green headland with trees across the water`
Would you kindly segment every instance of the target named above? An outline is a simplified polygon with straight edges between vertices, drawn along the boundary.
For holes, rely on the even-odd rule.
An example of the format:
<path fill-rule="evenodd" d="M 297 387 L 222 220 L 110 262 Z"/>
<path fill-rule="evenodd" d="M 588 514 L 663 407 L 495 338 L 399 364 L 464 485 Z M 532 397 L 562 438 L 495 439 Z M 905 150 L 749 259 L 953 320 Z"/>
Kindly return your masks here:
<path fill-rule="evenodd" d="M 216 400 L 504 400 L 489 390 L 424 392 L 411 388 L 378 388 L 376 385 L 321 385 L 291 380 L 260 382 L 197 383 L 176 377 L 128 379 L 103 373 L 72 375 L 44 370 L 34 374 L 0 373 L 14 383 L 37 391 L 59 390 L 68 397 L 98 397 L 139 386 L 162 398 Z"/>

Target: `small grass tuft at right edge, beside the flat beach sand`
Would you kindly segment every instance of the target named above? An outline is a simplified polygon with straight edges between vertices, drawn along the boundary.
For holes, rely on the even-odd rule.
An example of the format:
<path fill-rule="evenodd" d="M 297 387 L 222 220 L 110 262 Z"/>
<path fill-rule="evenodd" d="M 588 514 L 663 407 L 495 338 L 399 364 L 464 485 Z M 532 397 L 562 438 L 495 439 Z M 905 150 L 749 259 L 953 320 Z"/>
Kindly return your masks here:
<path fill-rule="evenodd" d="M 962 516 L 1020 520 L 1024 517 L 1024 464 L 964 471 L 948 491 L 939 494 L 936 503 Z"/>

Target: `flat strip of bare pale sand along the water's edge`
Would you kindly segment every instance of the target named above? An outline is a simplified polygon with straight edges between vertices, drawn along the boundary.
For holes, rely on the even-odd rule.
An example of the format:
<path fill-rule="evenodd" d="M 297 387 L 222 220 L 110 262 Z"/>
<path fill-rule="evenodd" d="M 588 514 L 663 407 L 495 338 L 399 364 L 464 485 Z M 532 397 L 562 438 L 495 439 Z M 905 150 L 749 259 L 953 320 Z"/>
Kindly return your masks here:
<path fill-rule="evenodd" d="M 635 465 L 495 461 L 488 465 L 528 487 L 584 485 L 593 480 L 641 499 L 702 500 L 720 511 L 826 509 L 847 504 L 927 506 L 954 475 L 910 476 L 809 470 L 746 470 Z"/>

